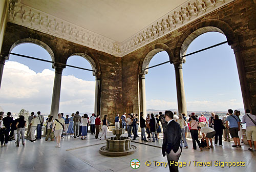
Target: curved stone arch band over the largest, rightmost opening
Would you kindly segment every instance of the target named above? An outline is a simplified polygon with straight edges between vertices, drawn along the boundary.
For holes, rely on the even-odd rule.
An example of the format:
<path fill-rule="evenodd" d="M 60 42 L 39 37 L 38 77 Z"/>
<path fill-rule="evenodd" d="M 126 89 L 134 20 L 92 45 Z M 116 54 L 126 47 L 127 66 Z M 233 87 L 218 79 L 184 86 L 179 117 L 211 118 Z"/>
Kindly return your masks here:
<path fill-rule="evenodd" d="M 233 29 L 227 23 L 216 19 L 205 20 L 189 28 L 184 34 L 182 34 L 181 38 L 177 42 L 174 52 L 175 58 L 180 58 L 176 60 L 185 62 L 185 58 L 182 58 L 182 56 L 185 55 L 190 43 L 196 37 L 206 32 L 220 32 L 224 34 L 227 38 L 228 45 L 232 45 L 236 42 L 236 36 L 234 35 Z"/>

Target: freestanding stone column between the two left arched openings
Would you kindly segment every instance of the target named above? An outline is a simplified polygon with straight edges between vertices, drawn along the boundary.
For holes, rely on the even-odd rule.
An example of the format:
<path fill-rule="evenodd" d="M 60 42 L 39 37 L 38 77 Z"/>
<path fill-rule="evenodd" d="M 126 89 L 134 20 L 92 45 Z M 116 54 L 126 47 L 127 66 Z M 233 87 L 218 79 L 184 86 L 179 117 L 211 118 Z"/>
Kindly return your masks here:
<path fill-rule="evenodd" d="M 55 76 L 53 83 L 53 92 L 52 92 L 52 105 L 51 105 L 51 115 L 54 119 L 58 117 L 59 113 L 59 99 L 60 99 L 60 86 L 61 86 L 61 75 L 63 67 L 54 67 Z"/>

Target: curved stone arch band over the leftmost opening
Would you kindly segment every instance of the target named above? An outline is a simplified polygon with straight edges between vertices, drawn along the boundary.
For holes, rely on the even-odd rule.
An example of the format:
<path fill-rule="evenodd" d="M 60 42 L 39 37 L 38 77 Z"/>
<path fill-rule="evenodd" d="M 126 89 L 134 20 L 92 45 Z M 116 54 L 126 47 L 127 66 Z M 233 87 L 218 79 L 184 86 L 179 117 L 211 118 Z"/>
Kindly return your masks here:
<path fill-rule="evenodd" d="M 24 38 L 24 39 L 19 39 L 16 42 L 14 42 L 9 50 L 9 54 L 7 59 L 9 59 L 9 55 L 10 52 L 12 51 L 12 49 L 20 44 L 25 44 L 25 43 L 32 43 L 32 44 L 36 44 L 42 48 L 44 48 L 51 56 L 52 61 L 55 62 L 55 58 L 54 58 L 54 53 L 52 51 L 52 49 L 43 41 L 38 40 L 38 39 L 33 39 L 33 38 Z"/>

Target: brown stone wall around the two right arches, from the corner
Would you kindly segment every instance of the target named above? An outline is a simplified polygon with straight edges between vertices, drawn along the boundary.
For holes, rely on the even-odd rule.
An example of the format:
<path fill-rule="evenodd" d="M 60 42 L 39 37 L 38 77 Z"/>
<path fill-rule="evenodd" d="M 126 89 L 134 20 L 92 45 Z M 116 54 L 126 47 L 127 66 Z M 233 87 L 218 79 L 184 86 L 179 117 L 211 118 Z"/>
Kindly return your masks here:
<path fill-rule="evenodd" d="M 197 29 L 210 26 L 219 28 L 226 35 L 228 44 L 233 48 L 234 52 L 236 52 L 235 55 L 244 104 L 246 108 L 252 109 L 253 113 L 256 114 L 255 16 L 255 1 L 237 0 L 125 55 L 122 57 L 122 89 L 124 102 L 133 101 L 134 103 L 138 103 L 139 101 L 138 75 L 142 72 L 142 62 L 148 53 L 158 48 L 158 45 L 163 45 L 163 47 L 167 45 L 172 51 L 168 52 L 168 50 L 168 54 L 173 54 L 170 60 L 182 61 L 180 51 L 184 40 Z M 202 29 L 201 34 L 207 31 L 209 30 Z M 212 31 L 214 31 L 214 29 Z M 189 45 L 185 45 L 185 47 L 188 46 Z M 232 81 L 230 81 L 230 84 L 231 83 Z M 139 109 L 134 111 L 138 112 Z"/>

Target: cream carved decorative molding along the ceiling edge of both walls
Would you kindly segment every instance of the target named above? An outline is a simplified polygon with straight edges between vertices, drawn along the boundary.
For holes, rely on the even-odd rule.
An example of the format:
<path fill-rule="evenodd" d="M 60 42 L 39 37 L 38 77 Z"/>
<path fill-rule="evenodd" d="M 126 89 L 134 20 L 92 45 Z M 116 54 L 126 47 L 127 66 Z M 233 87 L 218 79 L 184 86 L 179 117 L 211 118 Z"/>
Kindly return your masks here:
<path fill-rule="evenodd" d="M 234 0 L 191 0 L 170 11 L 131 38 L 117 42 L 66 20 L 11 0 L 9 22 L 122 57 Z"/>

